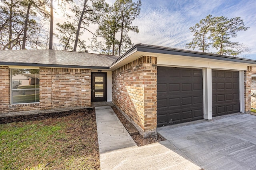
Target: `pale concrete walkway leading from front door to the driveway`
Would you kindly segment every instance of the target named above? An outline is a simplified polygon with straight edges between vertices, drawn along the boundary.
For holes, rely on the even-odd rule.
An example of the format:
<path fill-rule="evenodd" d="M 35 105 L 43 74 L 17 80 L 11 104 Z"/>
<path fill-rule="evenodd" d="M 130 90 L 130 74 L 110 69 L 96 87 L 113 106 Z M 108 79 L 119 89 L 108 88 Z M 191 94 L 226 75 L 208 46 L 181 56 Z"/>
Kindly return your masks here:
<path fill-rule="evenodd" d="M 200 170 L 169 141 L 137 147 L 110 106 L 95 107 L 101 170 Z"/>

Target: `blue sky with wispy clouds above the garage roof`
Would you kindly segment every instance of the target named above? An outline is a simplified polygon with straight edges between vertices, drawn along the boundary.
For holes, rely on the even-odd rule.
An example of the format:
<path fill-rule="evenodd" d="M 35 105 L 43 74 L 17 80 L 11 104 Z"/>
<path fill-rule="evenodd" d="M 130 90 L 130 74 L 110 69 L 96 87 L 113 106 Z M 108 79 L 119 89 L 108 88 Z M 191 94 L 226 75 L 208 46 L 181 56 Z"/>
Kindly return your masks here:
<path fill-rule="evenodd" d="M 135 2 L 135 0 L 133 0 Z M 115 0 L 106 0 L 113 4 Z M 241 17 L 247 31 L 239 31 L 238 41 L 251 49 L 248 59 L 256 60 L 256 0 L 141 0 L 140 15 L 132 25 L 139 33 L 129 32 L 132 43 L 186 49 L 192 41 L 190 27 L 211 14 L 226 18 Z M 196 50 L 196 49 L 195 49 Z M 91 52 L 89 50 L 89 52 Z"/>

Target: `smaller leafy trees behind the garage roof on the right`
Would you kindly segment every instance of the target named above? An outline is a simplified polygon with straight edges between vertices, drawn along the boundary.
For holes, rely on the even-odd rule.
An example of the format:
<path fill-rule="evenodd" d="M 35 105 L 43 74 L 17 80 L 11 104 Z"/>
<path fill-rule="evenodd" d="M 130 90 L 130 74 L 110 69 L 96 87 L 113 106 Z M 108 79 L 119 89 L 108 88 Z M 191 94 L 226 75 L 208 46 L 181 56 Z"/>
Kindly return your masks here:
<path fill-rule="evenodd" d="M 215 49 L 216 54 L 219 55 L 241 56 L 241 54 L 250 53 L 250 48 L 239 42 L 230 41 L 230 38 L 237 37 L 238 31 L 246 31 L 248 28 L 245 27 L 240 17 L 226 18 L 208 15 L 190 27 L 194 38 L 186 44 L 186 48 L 198 49 L 202 52 Z"/>

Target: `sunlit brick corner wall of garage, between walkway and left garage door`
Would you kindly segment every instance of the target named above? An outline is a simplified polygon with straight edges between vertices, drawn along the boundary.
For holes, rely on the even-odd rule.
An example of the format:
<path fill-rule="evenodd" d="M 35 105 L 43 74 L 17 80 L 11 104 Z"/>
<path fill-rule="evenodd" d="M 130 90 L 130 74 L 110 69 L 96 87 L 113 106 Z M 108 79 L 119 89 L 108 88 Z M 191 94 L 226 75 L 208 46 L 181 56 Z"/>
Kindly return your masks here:
<path fill-rule="evenodd" d="M 156 57 L 141 57 L 112 71 L 112 102 L 143 136 L 156 132 Z"/>

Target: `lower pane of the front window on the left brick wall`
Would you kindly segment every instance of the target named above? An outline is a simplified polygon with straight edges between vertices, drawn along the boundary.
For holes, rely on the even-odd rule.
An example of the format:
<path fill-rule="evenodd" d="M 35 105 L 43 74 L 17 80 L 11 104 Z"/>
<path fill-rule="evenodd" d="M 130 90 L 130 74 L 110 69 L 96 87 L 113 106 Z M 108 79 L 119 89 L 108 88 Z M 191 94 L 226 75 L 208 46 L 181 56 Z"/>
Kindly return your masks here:
<path fill-rule="evenodd" d="M 34 103 L 39 102 L 39 90 L 12 90 L 12 103 Z"/>

